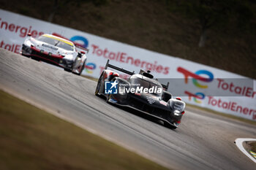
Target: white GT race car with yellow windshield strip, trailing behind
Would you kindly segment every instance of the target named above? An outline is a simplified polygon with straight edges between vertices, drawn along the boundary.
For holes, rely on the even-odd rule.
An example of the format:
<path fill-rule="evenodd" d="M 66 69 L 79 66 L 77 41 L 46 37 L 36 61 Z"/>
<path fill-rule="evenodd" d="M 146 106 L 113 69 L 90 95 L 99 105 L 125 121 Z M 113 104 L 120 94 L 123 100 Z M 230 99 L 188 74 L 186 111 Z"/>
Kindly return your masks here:
<path fill-rule="evenodd" d="M 78 51 L 79 49 L 82 49 Z M 86 64 L 86 52 L 83 47 L 76 47 L 69 39 L 51 34 L 43 34 L 37 39 L 28 34 L 22 45 L 21 54 L 37 61 L 45 61 L 61 66 L 67 72 L 80 75 Z"/>

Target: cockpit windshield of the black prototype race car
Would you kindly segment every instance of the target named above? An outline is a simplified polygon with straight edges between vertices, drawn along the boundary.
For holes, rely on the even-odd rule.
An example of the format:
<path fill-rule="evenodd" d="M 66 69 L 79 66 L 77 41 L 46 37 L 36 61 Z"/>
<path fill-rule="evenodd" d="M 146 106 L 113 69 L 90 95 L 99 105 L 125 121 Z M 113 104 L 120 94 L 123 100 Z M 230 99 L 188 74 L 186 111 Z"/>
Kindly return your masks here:
<path fill-rule="evenodd" d="M 143 88 L 154 88 L 154 89 L 159 89 L 161 87 L 161 85 L 157 85 L 154 82 L 149 82 L 147 80 L 143 80 L 140 78 L 131 78 L 129 80 L 129 82 L 131 83 L 132 87 L 136 88 L 136 87 L 143 87 Z M 158 90 L 154 90 L 154 92 L 152 94 L 156 95 L 156 96 L 162 96 L 162 90 L 161 93 L 157 92 Z"/>

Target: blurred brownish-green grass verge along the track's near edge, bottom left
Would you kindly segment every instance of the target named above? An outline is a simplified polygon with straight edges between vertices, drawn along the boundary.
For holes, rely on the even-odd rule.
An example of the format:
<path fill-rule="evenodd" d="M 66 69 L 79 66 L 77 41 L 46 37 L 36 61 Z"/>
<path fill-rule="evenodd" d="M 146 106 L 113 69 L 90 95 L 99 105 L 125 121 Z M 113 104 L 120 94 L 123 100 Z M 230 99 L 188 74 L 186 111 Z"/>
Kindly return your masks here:
<path fill-rule="evenodd" d="M 165 169 L 0 90 L 0 169 Z"/>

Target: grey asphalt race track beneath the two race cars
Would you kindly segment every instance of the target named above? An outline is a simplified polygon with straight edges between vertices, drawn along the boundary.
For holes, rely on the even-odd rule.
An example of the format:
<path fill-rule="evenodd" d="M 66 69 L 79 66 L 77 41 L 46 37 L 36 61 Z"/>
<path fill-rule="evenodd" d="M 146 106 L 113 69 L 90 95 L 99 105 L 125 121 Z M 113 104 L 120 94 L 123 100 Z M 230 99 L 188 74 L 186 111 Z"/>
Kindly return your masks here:
<path fill-rule="evenodd" d="M 97 82 L 0 48 L 0 88 L 171 169 L 255 169 L 234 141 L 256 126 L 187 108 L 176 130 L 94 96 Z"/>

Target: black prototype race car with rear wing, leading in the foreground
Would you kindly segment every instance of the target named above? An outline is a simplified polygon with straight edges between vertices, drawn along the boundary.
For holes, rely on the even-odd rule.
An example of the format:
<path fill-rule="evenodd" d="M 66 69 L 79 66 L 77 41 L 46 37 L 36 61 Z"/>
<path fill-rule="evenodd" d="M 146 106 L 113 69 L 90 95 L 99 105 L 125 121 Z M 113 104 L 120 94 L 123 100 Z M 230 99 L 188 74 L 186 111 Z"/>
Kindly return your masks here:
<path fill-rule="evenodd" d="M 108 67 L 129 74 L 129 79 L 121 79 L 117 72 Z M 105 96 L 112 104 L 137 109 L 177 128 L 186 104 L 181 98 L 172 98 L 167 92 L 168 85 L 169 82 L 167 85 L 159 83 L 150 72 L 140 70 L 139 74 L 135 74 L 111 65 L 108 60 L 99 77 L 95 95 Z"/>

